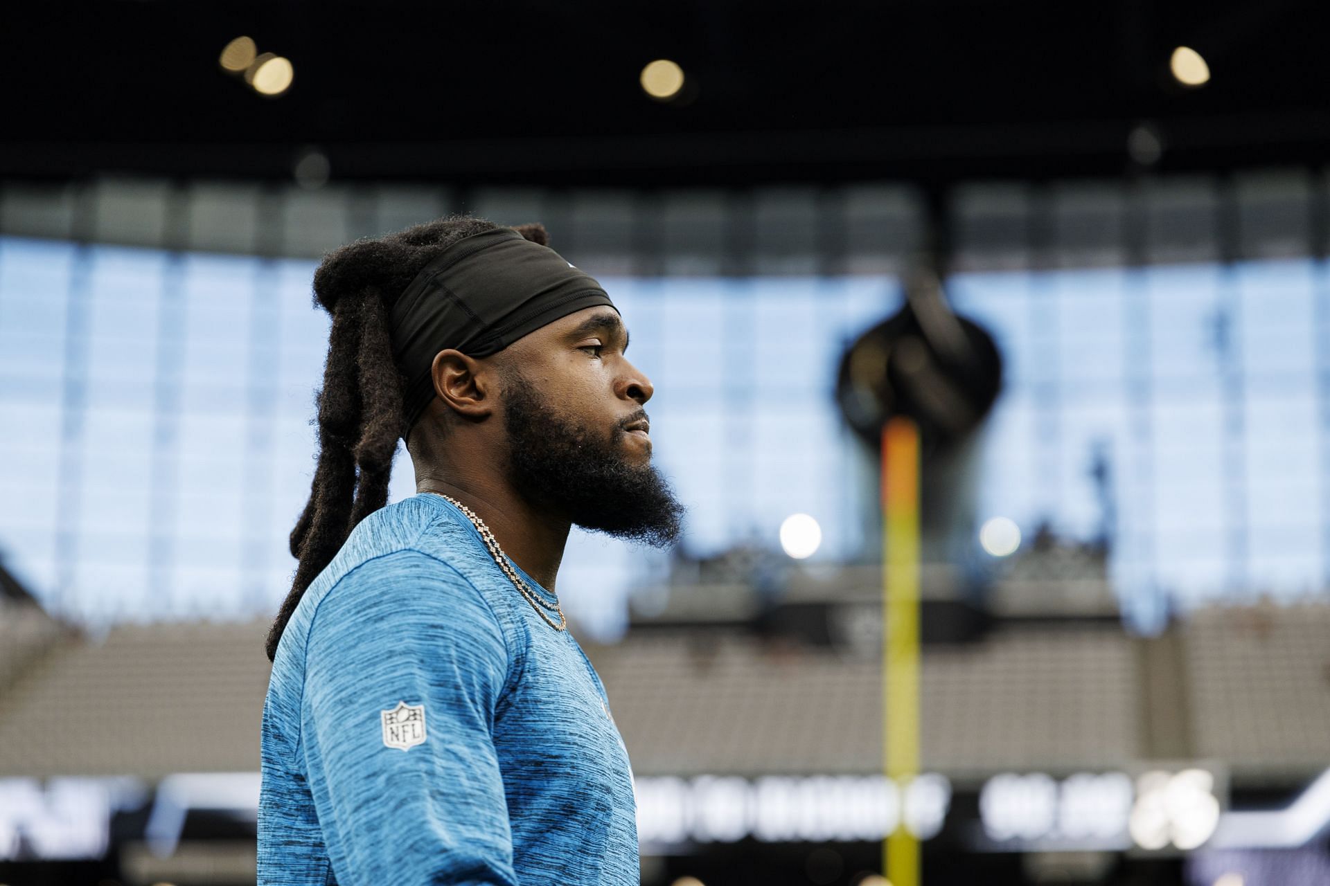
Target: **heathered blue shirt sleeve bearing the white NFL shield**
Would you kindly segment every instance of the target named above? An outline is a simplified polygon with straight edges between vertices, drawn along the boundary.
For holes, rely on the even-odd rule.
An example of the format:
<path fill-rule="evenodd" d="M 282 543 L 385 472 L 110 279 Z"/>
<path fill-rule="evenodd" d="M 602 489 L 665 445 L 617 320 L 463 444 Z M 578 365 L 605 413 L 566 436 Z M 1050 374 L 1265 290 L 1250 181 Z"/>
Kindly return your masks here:
<path fill-rule="evenodd" d="M 399 551 L 329 590 L 301 739 L 339 886 L 516 886 L 492 741 L 503 630 L 446 563 Z"/>

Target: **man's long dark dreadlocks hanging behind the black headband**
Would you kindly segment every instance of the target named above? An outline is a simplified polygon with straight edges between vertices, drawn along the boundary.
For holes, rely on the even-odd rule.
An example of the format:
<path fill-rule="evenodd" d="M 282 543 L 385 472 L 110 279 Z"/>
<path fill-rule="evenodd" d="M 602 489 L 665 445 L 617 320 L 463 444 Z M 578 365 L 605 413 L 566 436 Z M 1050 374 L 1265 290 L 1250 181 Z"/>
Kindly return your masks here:
<path fill-rule="evenodd" d="M 317 392 L 319 461 L 310 501 L 291 530 L 299 561 L 291 590 L 267 632 L 277 656 L 286 623 L 310 582 L 332 561 L 355 525 L 387 503 L 388 477 L 403 426 L 404 377 L 394 359 L 388 316 L 416 274 L 464 236 L 500 227 L 464 214 L 347 243 L 314 271 L 314 304 L 332 316 L 323 387 Z M 540 223 L 513 226 L 549 244 Z"/>

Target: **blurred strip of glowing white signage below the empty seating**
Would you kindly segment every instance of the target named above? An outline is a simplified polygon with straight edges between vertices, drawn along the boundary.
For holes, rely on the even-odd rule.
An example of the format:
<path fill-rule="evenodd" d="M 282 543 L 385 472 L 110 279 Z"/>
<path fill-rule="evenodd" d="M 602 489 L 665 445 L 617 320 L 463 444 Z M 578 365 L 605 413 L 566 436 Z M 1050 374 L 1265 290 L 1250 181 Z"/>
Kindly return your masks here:
<path fill-rule="evenodd" d="M 884 776 L 640 776 L 633 788 L 648 854 L 745 838 L 875 842 L 902 825 L 931 840 L 952 806 L 952 785 L 939 773 L 920 774 L 904 789 Z M 180 773 L 156 789 L 136 777 L 0 778 L 0 862 L 101 858 L 113 817 L 149 808 L 142 837 L 166 857 L 192 810 L 253 825 L 258 789 L 257 772 Z M 1330 770 L 1283 809 L 1226 810 L 1226 773 L 1210 764 L 1061 778 L 1001 773 L 979 790 L 979 820 L 966 816 L 951 833 L 967 834 L 976 851 L 1153 854 L 1297 847 L 1330 830 Z"/>

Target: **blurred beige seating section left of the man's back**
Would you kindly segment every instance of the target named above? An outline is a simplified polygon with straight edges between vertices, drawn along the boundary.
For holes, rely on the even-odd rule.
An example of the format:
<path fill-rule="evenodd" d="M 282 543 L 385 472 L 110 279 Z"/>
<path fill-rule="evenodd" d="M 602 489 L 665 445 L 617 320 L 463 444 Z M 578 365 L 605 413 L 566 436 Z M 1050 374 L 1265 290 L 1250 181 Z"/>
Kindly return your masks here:
<path fill-rule="evenodd" d="M 56 642 L 0 696 L 0 772 L 258 770 L 266 631 L 266 619 L 125 624 Z"/>

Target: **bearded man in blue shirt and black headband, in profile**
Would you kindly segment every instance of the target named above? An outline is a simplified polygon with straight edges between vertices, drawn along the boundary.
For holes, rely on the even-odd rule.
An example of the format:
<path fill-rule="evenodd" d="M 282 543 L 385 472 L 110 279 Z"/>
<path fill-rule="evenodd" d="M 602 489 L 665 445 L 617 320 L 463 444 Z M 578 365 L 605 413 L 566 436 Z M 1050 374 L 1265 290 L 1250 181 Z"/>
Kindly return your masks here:
<path fill-rule="evenodd" d="M 258 882 L 638 882 L 628 753 L 555 592 L 569 527 L 668 546 L 652 384 L 539 224 L 329 254 L 319 462 L 269 635 Z M 384 506 L 399 437 L 418 494 Z"/>

